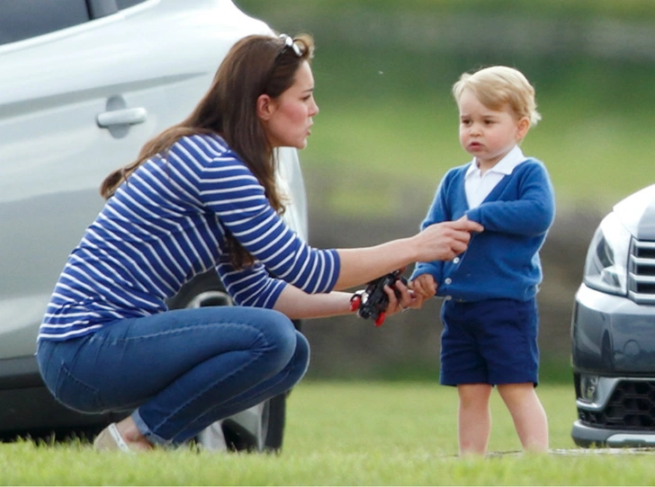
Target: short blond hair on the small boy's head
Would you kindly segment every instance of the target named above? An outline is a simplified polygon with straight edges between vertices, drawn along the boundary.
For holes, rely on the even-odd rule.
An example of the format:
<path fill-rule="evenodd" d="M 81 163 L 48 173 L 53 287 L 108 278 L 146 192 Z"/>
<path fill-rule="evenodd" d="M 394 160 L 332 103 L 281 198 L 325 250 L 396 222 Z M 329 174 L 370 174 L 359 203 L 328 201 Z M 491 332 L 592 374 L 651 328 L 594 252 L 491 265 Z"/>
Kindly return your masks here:
<path fill-rule="evenodd" d="M 480 103 L 490 110 L 500 110 L 508 104 L 519 119 L 527 117 L 531 127 L 542 119 L 534 101 L 533 85 L 513 67 L 489 66 L 472 74 L 464 73 L 453 84 L 456 102 L 460 102 L 464 90 L 471 90 Z"/>

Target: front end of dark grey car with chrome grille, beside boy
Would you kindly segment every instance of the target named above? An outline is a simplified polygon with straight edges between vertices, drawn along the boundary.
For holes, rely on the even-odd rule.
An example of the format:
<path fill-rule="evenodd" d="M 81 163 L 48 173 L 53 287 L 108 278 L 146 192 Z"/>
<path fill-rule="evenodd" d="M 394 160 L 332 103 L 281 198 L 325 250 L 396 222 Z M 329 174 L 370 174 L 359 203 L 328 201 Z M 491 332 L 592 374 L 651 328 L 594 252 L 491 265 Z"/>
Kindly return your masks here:
<path fill-rule="evenodd" d="M 616 204 L 598 226 L 571 339 L 576 444 L 655 446 L 655 185 Z"/>

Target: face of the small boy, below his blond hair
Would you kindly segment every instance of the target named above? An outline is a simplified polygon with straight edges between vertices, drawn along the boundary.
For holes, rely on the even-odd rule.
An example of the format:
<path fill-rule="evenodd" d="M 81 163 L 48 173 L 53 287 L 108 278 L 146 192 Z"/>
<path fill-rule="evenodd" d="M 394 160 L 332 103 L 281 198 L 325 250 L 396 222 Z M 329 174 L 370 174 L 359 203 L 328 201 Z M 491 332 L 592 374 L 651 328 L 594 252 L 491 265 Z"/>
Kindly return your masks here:
<path fill-rule="evenodd" d="M 490 169 L 518 144 L 528 128 L 527 117 L 517 119 L 509 105 L 491 110 L 471 90 L 464 90 L 459 100 L 460 143 L 475 156 L 480 169 Z"/>

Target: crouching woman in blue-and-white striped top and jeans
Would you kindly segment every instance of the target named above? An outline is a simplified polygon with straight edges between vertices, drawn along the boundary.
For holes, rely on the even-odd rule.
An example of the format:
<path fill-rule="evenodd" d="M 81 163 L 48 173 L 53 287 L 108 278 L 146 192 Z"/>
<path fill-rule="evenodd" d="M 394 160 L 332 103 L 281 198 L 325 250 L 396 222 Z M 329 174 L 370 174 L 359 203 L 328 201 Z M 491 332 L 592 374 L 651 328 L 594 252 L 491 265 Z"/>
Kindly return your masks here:
<path fill-rule="evenodd" d="M 350 312 L 350 288 L 413 261 L 463 252 L 472 223 L 369 248 L 316 250 L 283 222 L 274 149 L 303 148 L 314 102 L 313 41 L 250 36 L 192 114 L 103 182 L 107 202 L 68 258 L 40 327 L 41 375 L 81 412 L 132 411 L 98 449 L 193 438 L 282 394 L 310 350 L 291 319 Z M 168 311 L 193 276 L 218 270 L 236 306 Z M 420 305 L 399 285 L 388 314 Z"/>

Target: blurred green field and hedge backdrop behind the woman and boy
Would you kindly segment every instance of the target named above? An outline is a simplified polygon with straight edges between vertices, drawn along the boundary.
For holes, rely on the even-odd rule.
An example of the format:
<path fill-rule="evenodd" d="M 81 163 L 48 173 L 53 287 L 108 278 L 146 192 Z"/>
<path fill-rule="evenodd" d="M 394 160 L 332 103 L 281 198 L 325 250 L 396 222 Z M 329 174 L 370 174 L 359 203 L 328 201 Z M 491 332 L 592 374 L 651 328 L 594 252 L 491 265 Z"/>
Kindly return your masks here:
<path fill-rule="evenodd" d="M 543 120 L 525 155 L 549 168 L 557 217 L 542 252 L 542 380 L 570 381 L 570 314 L 588 242 L 620 199 L 655 182 L 652 0 L 236 0 L 317 43 L 320 113 L 301 152 L 310 244 L 379 244 L 412 235 L 436 185 L 470 160 L 450 94 L 459 75 L 515 66 Z M 380 328 L 312 320 L 309 377 L 438 376 L 441 302 Z"/>

